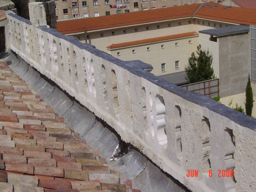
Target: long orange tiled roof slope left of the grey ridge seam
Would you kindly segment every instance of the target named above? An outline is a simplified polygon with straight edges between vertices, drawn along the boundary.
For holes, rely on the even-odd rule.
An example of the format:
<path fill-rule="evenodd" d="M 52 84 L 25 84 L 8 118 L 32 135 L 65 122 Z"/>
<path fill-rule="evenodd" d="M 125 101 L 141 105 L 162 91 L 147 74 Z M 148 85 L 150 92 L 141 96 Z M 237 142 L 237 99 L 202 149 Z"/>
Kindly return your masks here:
<path fill-rule="evenodd" d="M 58 21 L 57 29 L 60 33 L 69 34 L 84 32 L 85 28 L 87 31 L 92 31 L 112 27 L 122 27 L 127 25 L 191 17 L 191 15 L 196 11 L 198 7 L 199 4 L 184 5 L 178 7 L 153 9 L 149 11 L 137 11 L 100 17 Z"/>

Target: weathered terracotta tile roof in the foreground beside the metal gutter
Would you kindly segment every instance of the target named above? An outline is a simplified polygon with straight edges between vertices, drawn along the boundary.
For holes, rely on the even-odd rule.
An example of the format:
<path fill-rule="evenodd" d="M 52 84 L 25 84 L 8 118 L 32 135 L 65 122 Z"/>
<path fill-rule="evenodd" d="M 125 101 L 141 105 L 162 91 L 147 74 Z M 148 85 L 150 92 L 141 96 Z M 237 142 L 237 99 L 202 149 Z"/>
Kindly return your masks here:
<path fill-rule="evenodd" d="M 1 60 L 0 153 L 0 191 L 140 192 Z"/>

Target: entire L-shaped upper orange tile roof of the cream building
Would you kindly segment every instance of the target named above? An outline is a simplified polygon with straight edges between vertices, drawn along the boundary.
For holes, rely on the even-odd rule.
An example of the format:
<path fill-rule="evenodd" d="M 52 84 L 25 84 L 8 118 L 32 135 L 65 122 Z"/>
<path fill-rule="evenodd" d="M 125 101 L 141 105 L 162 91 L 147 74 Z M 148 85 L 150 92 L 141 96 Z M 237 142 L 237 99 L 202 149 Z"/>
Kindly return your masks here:
<path fill-rule="evenodd" d="M 254 15 L 256 15 L 256 10 L 254 9 L 249 10 L 246 8 L 236 7 L 224 9 L 227 6 L 219 5 L 213 2 L 204 3 L 203 6 L 217 5 L 217 7 L 210 8 L 211 6 L 201 6 L 201 8 L 199 8 L 200 5 L 201 4 L 184 5 L 101 17 L 58 21 L 57 30 L 63 34 L 82 33 L 84 32 L 85 28 L 87 31 L 103 30 L 192 16 L 235 24 L 256 25 L 256 17 L 254 17 Z"/>

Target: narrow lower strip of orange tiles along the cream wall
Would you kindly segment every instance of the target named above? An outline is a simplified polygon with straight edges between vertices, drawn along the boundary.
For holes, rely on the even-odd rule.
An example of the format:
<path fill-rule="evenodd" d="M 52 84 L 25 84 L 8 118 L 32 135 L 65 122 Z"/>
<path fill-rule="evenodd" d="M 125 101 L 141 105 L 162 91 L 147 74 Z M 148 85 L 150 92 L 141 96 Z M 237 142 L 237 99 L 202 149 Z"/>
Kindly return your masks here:
<path fill-rule="evenodd" d="M 198 33 L 193 31 L 193 32 L 188 32 L 188 33 L 180 33 L 180 34 L 168 35 L 168 36 L 162 36 L 162 37 L 155 37 L 155 38 L 150 38 L 150 39 L 142 39 L 142 40 L 137 40 L 137 41 L 116 43 L 116 44 L 112 44 L 110 46 L 107 46 L 107 48 L 108 49 L 115 49 L 115 48 L 141 45 L 141 44 L 145 44 L 145 43 L 153 43 L 153 42 L 158 42 L 158 41 L 165 41 L 165 40 L 170 40 L 170 39 L 179 39 L 179 38 L 191 37 L 191 36 L 198 36 Z"/>

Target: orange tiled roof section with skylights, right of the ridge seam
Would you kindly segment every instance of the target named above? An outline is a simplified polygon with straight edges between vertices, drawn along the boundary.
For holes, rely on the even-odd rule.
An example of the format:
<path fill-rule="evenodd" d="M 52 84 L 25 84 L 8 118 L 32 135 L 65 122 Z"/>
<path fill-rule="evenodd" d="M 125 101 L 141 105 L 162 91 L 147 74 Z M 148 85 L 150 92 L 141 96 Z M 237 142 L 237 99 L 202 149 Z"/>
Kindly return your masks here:
<path fill-rule="evenodd" d="M 205 5 L 210 5 L 208 7 L 202 6 L 194 17 L 200 17 L 205 19 L 212 19 L 224 22 L 230 22 L 235 24 L 244 25 L 256 25 L 256 10 L 231 7 L 229 9 L 224 9 L 227 6 L 218 5 L 215 3 L 204 3 Z M 215 8 L 210 8 L 213 5 L 217 5 Z"/>

